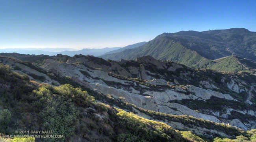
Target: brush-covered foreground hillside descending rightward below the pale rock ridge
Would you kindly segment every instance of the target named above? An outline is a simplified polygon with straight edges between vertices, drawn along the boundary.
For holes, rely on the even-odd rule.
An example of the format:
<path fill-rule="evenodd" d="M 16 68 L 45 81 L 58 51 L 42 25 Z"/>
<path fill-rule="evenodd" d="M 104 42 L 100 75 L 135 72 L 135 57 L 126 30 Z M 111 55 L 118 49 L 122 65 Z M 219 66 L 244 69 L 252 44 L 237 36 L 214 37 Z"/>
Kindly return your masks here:
<path fill-rule="evenodd" d="M 0 64 L 0 83 L 1 141 L 204 142 L 206 140 L 190 131 L 178 131 L 163 122 L 148 120 L 133 112 L 96 101 L 81 88 L 74 88 L 69 84 L 54 87 L 32 81 L 26 74 L 12 71 L 8 65 Z M 157 114 L 154 111 L 145 112 L 159 117 L 168 115 Z M 182 121 L 189 122 L 190 119 Z M 197 121 L 196 118 L 194 119 Z M 13 135 L 19 130 L 52 130 L 54 135 L 64 135 L 64 138 L 11 139 L 4 136 L 4 134 Z M 239 131 L 236 140 L 255 139 L 255 130 Z M 229 139 L 214 139 L 216 142 L 221 140 Z"/>

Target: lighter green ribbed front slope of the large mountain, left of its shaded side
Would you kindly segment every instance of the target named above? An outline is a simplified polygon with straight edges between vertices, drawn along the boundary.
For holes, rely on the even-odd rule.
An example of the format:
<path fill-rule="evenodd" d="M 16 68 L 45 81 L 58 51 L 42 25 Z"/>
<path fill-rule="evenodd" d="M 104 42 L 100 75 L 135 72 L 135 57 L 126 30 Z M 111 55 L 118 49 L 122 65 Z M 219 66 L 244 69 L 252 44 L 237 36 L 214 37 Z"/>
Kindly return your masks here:
<path fill-rule="evenodd" d="M 136 57 L 150 55 L 156 59 L 171 60 L 191 67 L 207 66 L 208 59 L 186 48 L 184 44 L 189 44 L 189 42 L 184 39 L 173 38 L 162 34 L 139 48 L 109 54 L 108 57 L 104 56 L 104 59 L 135 59 Z"/>

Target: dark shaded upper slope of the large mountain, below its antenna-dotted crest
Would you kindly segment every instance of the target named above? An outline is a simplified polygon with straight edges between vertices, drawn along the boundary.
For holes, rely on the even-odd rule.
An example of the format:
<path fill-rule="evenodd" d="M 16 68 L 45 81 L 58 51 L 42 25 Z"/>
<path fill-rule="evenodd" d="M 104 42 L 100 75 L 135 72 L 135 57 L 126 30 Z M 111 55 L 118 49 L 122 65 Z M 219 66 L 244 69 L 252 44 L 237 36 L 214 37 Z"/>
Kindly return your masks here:
<path fill-rule="evenodd" d="M 191 49 L 208 59 L 218 59 L 233 54 L 256 60 L 256 32 L 245 28 L 202 32 L 180 31 L 168 35 L 187 39 L 200 45 L 200 48 L 191 47 Z"/>

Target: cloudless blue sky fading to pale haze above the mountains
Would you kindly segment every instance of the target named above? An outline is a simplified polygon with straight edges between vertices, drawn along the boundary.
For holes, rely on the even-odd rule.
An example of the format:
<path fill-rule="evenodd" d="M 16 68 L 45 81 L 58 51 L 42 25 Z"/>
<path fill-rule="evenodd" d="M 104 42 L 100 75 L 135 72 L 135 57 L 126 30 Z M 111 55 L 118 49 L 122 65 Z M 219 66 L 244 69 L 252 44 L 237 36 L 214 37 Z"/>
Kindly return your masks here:
<path fill-rule="evenodd" d="M 256 31 L 256 0 L 0 0 L 0 48 L 104 48 L 228 28 Z"/>

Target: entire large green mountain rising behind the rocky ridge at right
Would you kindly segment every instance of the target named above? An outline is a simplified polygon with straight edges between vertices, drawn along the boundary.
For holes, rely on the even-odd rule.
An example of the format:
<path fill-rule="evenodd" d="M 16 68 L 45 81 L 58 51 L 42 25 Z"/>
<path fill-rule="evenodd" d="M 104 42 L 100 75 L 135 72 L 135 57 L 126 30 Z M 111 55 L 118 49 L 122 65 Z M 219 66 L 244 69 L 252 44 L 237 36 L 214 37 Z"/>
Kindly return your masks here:
<path fill-rule="evenodd" d="M 135 59 L 146 55 L 182 63 L 193 68 L 248 71 L 251 70 L 250 68 L 255 68 L 256 32 L 245 28 L 232 28 L 202 32 L 163 33 L 138 48 L 126 49 L 101 57 L 120 60 Z M 223 59 L 216 60 L 219 58 Z M 224 60 L 229 62 L 223 62 Z"/>

